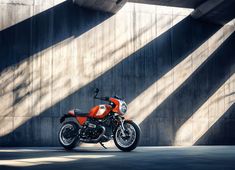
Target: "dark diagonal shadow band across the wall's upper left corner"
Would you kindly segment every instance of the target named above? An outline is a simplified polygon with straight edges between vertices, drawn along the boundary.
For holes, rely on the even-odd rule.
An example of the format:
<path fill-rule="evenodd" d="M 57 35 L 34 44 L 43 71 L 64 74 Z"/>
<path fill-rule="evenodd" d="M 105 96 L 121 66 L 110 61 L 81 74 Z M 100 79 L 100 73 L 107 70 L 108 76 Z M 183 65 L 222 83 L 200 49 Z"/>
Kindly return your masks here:
<path fill-rule="evenodd" d="M 67 0 L 0 32 L 0 72 L 110 17 Z"/>

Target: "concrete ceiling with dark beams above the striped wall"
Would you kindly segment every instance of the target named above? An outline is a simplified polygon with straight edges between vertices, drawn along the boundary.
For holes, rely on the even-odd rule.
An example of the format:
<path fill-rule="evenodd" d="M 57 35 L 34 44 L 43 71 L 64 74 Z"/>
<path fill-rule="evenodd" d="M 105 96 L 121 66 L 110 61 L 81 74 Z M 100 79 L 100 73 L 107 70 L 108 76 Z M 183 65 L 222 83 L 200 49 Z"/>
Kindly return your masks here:
<path fill-rule="evenodd" d="M 192 17 L 224 25 L 235 17 L 235 0 L 73 0 L 79 6 L 116 13 L 128 2 L 194 8 Z"/>

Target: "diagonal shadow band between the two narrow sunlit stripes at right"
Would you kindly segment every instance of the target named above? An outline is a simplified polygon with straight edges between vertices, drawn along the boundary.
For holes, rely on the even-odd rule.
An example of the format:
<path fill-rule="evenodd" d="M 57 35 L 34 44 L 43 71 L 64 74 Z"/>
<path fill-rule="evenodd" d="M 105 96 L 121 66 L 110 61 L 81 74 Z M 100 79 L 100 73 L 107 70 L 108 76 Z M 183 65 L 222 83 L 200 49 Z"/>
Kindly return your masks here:
<path fill-rule="evenodd" d="M 174 144 L 177 130 L 234 73 L 234 43 L 235 33 L 141 123 L 142 145 Z"/>

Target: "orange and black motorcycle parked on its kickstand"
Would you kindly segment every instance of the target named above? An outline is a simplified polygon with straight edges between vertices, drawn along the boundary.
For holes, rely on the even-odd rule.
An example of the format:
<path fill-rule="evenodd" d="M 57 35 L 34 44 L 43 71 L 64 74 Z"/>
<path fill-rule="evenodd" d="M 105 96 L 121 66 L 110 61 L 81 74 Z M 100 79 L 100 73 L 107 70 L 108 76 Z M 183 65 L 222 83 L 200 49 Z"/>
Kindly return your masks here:
<path fill-rule="evenodd" d="M 70 110 L 60 118 L 63 123 L 59 130 L 59 142 L 66 149 L 71 150 L 78 143 L 100 143 L 114 140 L 115 145 L 122 151 L 129 152 L 135 149 L 140 140 L 140 128 L 132 120 L 124 118 L 127 104 L 118 97 L 98 97 L 99 89 L 96 88 L 94 99 L 108 102 L 94 106 L 88 113 L 80 109 Z M 107 149 L 107 148 L 106 148 Z"/>

